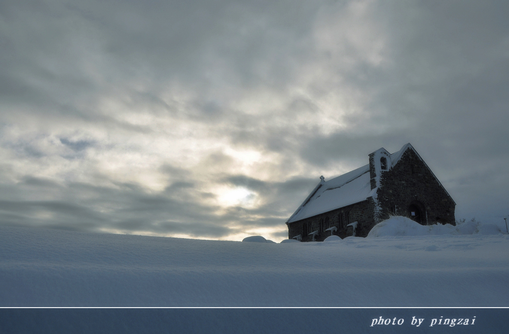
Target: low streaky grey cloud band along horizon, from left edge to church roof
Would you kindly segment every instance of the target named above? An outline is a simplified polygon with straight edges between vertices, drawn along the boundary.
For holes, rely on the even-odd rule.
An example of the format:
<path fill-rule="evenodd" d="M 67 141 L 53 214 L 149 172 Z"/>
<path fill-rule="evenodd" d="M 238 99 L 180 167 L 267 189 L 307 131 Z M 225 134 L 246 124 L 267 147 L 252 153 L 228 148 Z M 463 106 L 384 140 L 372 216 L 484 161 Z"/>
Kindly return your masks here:
<path fill-rule="evenodd" d="M 37 198 L 44 193 L 66 194 L 61 200 L 2 200 L 0 219 L 4 224 L 76 231 L 117 230 L 124 233 L 182 233 L 201 237 L 226 237 L 246 227 L 277 227 L 298 205 L 295 198 L 305 196 L 317 183 L 310 179 L 290 179 L 284 183 L 265 183 L 243 175 L 231 176 L 228 183 L 260 192 L 268 201 L 256 209 L 232 207 L 221 215 L 212 215 L 217 207 L 200 203 L 192 194 L 193 184 L 176 182 L 159 194 L 149 194 L 137 185 L 117 184 L 117 188 L 87 184 L 59 184 L 27 176 L 16 193 L 30 191 Z M 299 200 L 299 199 L 297 199 Z M 78 204 L 79 203 L 79 204 Z M 264 218 L 253 218 L 265 216 Z M 48 218 L 50 217 L 50 218 Z M 236 227 L 228 227 L 230 224 Z"/>

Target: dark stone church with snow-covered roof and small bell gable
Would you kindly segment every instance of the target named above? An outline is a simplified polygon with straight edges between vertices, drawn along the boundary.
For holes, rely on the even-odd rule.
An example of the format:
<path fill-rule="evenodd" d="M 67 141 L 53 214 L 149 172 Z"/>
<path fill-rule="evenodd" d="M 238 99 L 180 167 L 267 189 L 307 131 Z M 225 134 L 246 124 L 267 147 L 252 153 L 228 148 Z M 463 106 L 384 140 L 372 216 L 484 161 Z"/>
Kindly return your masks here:
<path fill-rule="evenodd" d="M 390 154 L 383 147 L 369 164 L 320 183 L 286 222 L 288 238 L 322 241 L 329 235 L 366 236 L 389 216 L 419 224 L 456 225 L 456 203 L 415 148 Z"/>

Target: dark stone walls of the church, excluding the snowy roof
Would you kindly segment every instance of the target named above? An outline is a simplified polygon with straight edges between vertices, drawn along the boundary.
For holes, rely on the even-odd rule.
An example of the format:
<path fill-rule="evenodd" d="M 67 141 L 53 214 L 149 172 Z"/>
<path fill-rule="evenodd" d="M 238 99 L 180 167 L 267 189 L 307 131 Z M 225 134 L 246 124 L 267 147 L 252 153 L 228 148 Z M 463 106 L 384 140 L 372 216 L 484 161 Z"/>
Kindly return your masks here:
<path fill-rule="evenodd" d="M 316 241 L 323 241 L 331 235 L 327 228 L 335 226 L 334 235 L 342 238 L 352 235 L 349 223 L 357 222 L 356 236 L 365 237 L 380 221 L 392 216 L 411 216 L 410 207 L 420 212 L 420 224 L 455 225 L 455 202 L 433 175 L 428 166 L 408 148 L 398 163 L 388 170 L 375 170 L 374 156 L 369 156 L 371 188 L 376 187 L 375 176 L 380 173 L 380 187 L 377 191 L 379 211 L 373 198 L 337 208 L 322 214 L 302 219 L 288 225 L 288 237 L 301 235 L 302 241 L 312 241 L 314 231 Z"/>

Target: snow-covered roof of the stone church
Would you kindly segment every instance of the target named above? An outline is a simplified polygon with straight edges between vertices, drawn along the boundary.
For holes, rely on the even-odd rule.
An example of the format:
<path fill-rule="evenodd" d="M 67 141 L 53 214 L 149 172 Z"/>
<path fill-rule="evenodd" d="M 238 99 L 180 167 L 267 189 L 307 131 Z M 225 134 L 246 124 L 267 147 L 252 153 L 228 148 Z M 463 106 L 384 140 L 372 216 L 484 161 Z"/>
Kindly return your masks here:
<path fill-rule="evenodd" d="M 412 149 L 417 157 L 424 162 L 415 148 L 413 148 L 410 143 L 407 143 L 403 145 L 399 151 L 390 155 L 392 167 L 400 161 L 401 157 L 408 148 Z M 380 149 L 383 149 L 383 147 Z M 426 162 L 424 163 L 426 164 Z M 431 173 L 435 176 L 433 172 Z M 436 176 L 435 178 L 439 185 L 442 186 L 438 178 Z M 309 194 L 309 196 L 307 196 L 297 210 L 295 210 L 294 214 L 288 219 L 287 223 L 296 222 L 304 218 L 313 217 L 323 214 L 324 212 L 361 202 L 372 197 L 376 191 L 377 188 L 373 190 L 371 189 L 369 164 L 343 175 L 334 177 L 328 181 L 321 178 L 320 183 Z M 447 193 L 447 191 L 445 192 Z"/>

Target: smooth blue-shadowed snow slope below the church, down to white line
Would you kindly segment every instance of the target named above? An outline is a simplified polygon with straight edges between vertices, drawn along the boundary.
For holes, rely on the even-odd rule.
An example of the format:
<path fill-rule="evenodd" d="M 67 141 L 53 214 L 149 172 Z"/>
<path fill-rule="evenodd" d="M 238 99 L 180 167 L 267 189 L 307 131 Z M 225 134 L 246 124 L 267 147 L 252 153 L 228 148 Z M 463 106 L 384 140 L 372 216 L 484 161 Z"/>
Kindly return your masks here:
<path fill-rule="evenodd" d="M 211 241 L 0 227 L 2 307 L 507 307 L 507 235 Z"/>

